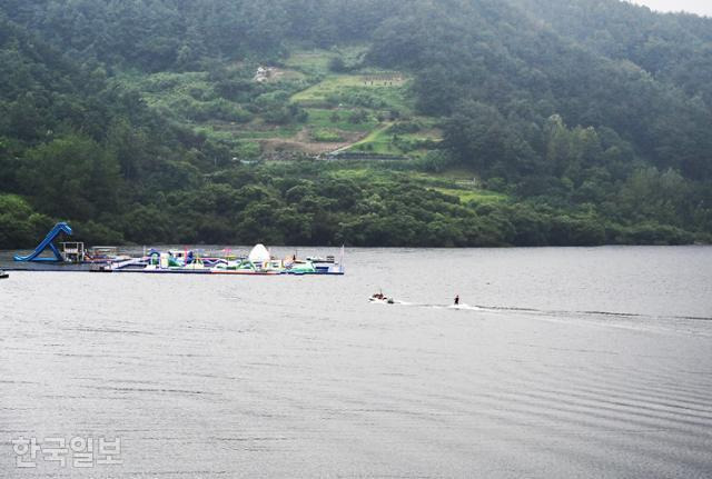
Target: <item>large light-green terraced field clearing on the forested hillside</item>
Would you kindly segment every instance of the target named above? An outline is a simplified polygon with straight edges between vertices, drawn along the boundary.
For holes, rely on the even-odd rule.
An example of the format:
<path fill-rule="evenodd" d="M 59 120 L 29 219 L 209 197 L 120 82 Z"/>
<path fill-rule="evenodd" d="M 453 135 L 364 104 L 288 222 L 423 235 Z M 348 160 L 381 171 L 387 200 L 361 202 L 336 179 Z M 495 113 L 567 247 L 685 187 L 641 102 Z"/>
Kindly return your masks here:
<path fill-rule="evenodd" d="M 228 64 L 220 71 L 125 74 L 118 81 L 176 123 L 229 148 L 234 157 L 289 158 L 333 151 L 419 158 L 439 141 L 434 119 L 416 117 L 398 71 L 358 64 L 360 47 L 299 50 L 278 66 Z M 269 74 L 259 79 L 259 67 Z M 399 128 L 407 126 L 407 128 Z M 277 156 L 279 157 L 279 156 Z"/>

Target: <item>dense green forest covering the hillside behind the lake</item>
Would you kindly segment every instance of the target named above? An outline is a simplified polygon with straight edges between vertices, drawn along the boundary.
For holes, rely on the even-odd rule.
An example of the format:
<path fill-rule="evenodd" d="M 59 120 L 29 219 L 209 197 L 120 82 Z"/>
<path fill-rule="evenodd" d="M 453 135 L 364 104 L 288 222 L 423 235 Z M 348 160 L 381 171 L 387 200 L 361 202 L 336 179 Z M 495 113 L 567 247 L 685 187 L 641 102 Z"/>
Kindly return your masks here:
<path fill-rule="evenodd" d="M 0 248 L 57 220 L 101 243 L 712 239 L 712 19 L 617 0 L 3 0 L 0 61 Z M 288 74 L 256 82 L 263 64 Z M 301 98 L 383 72 L 403 89 Z M 368 127 L 403 159 L 275 160 L 240 139 L 317 119 L 319 141 Z"/>

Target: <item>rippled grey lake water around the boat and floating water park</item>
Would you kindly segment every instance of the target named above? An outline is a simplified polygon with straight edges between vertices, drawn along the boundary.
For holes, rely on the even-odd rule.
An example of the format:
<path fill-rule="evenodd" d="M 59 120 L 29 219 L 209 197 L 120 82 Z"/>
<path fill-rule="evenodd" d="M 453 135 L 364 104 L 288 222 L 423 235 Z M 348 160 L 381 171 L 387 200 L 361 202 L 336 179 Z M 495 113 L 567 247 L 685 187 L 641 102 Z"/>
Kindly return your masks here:
<path fill-rule="evenodd" d="M 712 248 L 360 249 L 346 268 L 11 272 L 0 477 L 712 477 Z M 122 465 L 19 469 L 20 437 L 120 438 Z"/>

